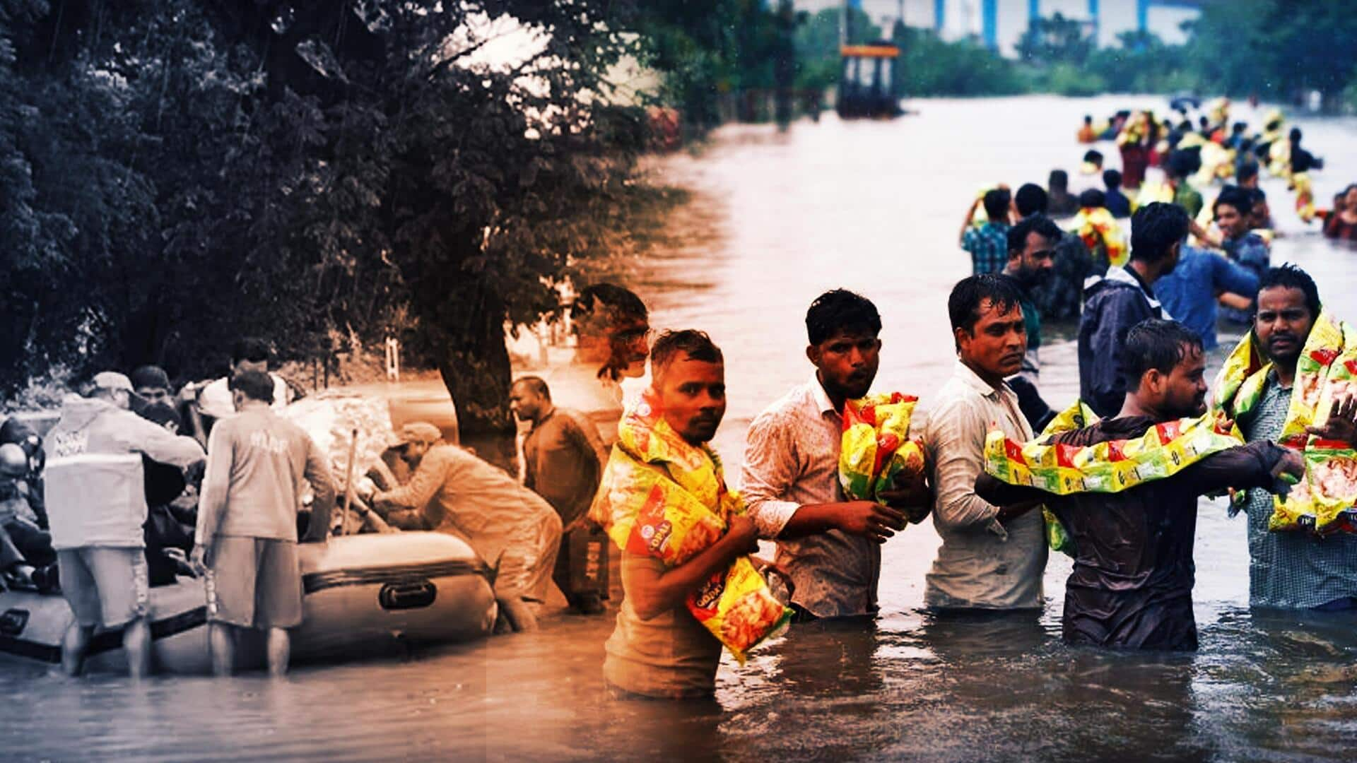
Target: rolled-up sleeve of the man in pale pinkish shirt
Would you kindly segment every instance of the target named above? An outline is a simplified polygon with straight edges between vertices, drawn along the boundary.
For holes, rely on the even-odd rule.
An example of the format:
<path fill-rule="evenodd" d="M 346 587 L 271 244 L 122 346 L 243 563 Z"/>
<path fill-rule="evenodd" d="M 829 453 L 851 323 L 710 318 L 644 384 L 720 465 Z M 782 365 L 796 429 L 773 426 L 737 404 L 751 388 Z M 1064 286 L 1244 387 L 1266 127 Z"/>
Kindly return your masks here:
<path fill-rule="evenodd" d="M 778 538 L 801 508 L 786 500 L 798 475 L 797 440 L 788 424 L 763 414 L 749 425 L 745 445 L 741 491 L 759 538 L 767 540 Z"/>

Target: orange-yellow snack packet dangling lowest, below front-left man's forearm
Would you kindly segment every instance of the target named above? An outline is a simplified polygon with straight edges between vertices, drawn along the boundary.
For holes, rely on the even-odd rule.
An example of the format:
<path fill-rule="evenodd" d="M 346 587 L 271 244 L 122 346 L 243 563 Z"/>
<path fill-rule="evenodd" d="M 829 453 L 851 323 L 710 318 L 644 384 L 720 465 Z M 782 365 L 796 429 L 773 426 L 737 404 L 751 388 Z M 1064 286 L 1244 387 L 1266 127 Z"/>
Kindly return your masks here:
<path fill-rule="evenodd" d="M 691 593 L 688 611 L 741 664 L 745 653 L 780 635 L 791 622 L 791 610 L 772 595 L 768 581 L 754 569 L 749 557 L 740 557 L 730 567 L 712 574 L 702 588 Z"/>

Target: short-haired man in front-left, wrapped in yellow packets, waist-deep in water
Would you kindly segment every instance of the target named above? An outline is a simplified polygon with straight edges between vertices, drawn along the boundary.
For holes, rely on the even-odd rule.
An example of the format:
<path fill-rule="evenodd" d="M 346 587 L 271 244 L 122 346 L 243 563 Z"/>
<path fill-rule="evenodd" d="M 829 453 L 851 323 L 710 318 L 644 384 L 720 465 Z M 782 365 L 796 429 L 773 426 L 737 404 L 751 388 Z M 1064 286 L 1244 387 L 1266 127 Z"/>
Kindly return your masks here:
<path fill-rule="evenodd" d="M 726 413 L 721 349 L 702 331 L 666 331 L 650 368 L 589 510 L 622 548 L 603 672 L 622 696 L 711 696 L 721 648 L 744 660 L 791 612 L 749 561 L 754 523 L 707 445 Z"/>

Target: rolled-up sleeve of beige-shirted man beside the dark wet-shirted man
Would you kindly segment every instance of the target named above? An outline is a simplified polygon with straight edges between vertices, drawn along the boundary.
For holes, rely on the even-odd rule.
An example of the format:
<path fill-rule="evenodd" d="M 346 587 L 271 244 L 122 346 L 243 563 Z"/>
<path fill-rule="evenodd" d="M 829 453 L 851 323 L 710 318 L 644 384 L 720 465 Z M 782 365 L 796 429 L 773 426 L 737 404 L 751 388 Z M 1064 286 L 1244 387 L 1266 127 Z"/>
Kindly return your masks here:
<path fill-rule="evenodd" d="M 1008 532 L 999 523 L 999 508 L 976 494 L 984 458 L 984 417 L 954 401 L 930 413 L 928 421 L 936 494 L 934 521 L 946 529 L 984 529 L 1007 538 Z"/>

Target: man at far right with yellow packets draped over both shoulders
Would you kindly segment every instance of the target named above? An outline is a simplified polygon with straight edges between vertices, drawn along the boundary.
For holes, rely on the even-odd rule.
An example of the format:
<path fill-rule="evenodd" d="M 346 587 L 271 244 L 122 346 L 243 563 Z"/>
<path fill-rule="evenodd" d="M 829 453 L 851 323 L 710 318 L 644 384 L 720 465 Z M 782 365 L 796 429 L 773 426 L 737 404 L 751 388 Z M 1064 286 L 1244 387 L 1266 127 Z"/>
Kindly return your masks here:
<path fill-rule="evenodd" d="M 1303 481 L 1282 502 L 1262 490 L 1248 493 L 1248 603 L 1291 610 L 1357 608 L 1357 535 L 1324 527 L 1314 528 L 1316 534 L 1289 521 L 1300 519 L 1295 513 L 1316 508 L 1314 498 L 1326 493 L 1346 505 L 1357 496 L 1352 479 L 1357 466 L 1352 451 L 1357 447 L 1353 329 L 1322 310 L 1315 281 L 1293 265 L 1267 270 L 1254 305 L 1254 329 L 1227 360 L 1216 405 L 1235 418 L 1250 443 L 1304 449 L 1311 470 L 1307 478 L 1339 479 L 1337 485 L 1331 479 Z M 1320 415 L 1322 406 L 1327 415 Z M 1316 471 L 1324 455 L 1331 458 Z M 1286 512 L 1289 508 L 1296 512 Z"/>

